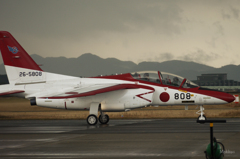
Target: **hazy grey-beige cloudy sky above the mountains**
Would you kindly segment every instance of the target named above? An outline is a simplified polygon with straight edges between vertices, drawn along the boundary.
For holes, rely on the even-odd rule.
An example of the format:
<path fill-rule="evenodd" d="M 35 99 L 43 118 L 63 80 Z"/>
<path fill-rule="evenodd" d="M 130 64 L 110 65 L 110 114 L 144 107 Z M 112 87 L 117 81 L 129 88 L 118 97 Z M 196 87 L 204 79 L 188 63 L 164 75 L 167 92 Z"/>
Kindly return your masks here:
<path fill-rule="evenodd" d="M 0 0 L 29 54 L 240 64 L 239 0 Z"/>

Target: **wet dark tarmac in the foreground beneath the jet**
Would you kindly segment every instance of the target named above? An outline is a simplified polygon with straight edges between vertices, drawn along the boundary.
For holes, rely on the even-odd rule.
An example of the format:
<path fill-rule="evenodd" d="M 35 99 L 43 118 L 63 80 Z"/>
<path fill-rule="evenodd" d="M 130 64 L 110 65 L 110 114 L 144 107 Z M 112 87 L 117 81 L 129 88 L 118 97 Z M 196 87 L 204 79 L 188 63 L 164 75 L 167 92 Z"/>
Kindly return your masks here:
<path fill-rule="evenodd" d="M 224 158 L 240 158 L 240 119 L 214 124 L 225 145 Z M 195 119 L 2 120 L 0 158 L 166 158 L 202 159 L 210 142 L 209 124 Z"/>

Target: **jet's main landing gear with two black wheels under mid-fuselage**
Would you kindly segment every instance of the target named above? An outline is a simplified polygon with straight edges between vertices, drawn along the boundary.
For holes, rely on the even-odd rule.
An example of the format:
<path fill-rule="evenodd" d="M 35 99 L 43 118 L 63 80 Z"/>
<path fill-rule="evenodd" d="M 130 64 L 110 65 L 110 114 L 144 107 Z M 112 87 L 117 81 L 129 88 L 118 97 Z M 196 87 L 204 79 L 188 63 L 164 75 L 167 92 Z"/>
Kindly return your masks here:
<path fill-rule="evenodd" d="M 100 108 L 100 115 L 98 115 L 98 109 Z M 107 124 L 109 122 L 109 116 L 104 114 L 99 103 L 91 103 L 90 105 L 90 115 L 87 117 L 87 123 L 89 125 L 96 125 L 98 120 L 101 124 Z"/>

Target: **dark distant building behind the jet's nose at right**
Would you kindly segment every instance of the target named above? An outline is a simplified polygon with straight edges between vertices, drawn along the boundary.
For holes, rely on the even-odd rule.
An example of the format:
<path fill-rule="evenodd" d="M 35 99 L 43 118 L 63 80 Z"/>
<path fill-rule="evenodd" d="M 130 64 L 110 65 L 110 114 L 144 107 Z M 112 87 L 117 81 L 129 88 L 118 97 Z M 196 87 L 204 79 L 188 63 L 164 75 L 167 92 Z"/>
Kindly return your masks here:
<path fill-rule="evenodd" d="M 227 73 L 202 74 L 193 80 L 199 86 L 227 92 L 240 92 L 240 82 L 227 79 Z"/>

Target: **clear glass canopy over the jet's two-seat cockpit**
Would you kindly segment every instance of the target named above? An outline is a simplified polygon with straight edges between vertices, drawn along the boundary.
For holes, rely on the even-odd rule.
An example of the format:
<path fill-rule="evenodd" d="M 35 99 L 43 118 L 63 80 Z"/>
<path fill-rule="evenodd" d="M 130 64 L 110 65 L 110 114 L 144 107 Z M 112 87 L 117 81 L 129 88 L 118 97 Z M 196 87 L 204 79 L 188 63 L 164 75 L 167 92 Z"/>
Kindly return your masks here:
<path fill-rule="evenodd" d="M 159 71 L 142 71 L 131 73 L 132 77 L 138 80 L 170 85 L 182 88 L 198 87 L 197 84 L 178 75 Z"/>

